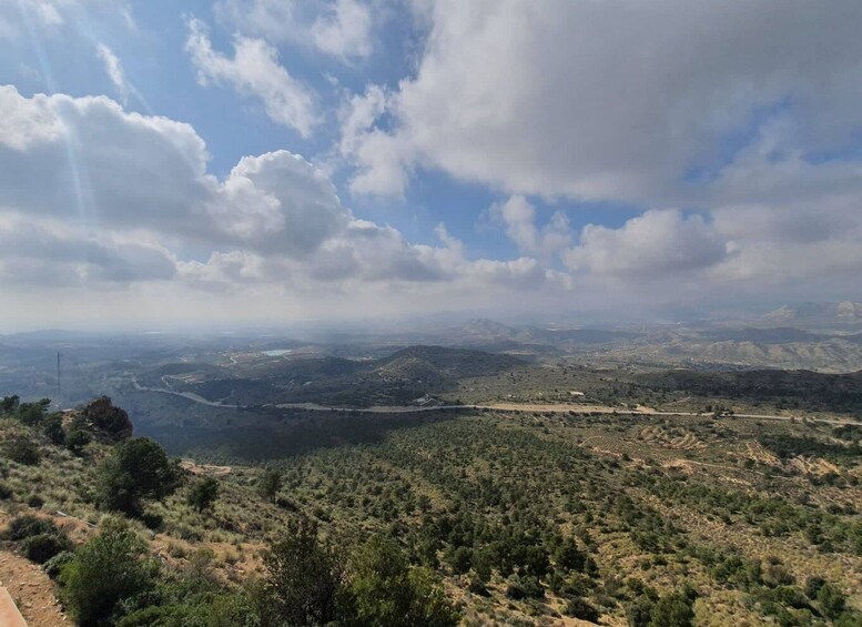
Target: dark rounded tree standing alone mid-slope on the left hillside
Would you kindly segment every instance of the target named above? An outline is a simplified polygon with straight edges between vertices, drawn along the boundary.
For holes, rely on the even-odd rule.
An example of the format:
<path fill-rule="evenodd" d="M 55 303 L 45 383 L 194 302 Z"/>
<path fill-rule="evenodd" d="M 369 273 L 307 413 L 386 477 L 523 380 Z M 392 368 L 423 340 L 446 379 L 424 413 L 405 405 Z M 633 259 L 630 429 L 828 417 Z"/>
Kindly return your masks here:
<path fill-rule="evenodd" d="M 97 479 L 100 506 L 140 516 L 144 498 L 161 500 L 178 488 L 180 468 L 156 442 L 134 437 L 121 442 L 102 463 Z"/>

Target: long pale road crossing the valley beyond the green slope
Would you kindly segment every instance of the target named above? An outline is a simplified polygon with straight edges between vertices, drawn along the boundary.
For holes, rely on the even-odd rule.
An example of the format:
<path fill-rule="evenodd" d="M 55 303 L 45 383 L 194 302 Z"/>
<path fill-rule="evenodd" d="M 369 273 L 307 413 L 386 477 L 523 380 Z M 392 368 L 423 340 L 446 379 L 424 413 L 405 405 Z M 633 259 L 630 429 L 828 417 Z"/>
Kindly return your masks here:
<path fill-rule="evenodd" d="M 171 394 L 173 396 L 180 396 L 186 401 L 200 403 L 207 407 L 222 407 L 227 409 L 242 409 L 252 408 L 255 405 L 235 405 L 229 403 L 221 403 L 219 401 L 209 401 L 203 396 L 194 394 L 192 392 L 174 392 L 173 390 L 164 390 L 162 387 L 145 387 L 140 385 L 138 381 L 133 381 L 135 390 L 143 392 L 156 392 L 160 394 Z M 264 405 L 267 406 L 267 405 Z M 414 407 L 414 406 L 375 406 L 375 407 L 327 407 L 324 405 L 317 405 L 315 403 L 282 403 L 275 405 L 281 409 L 305 409 L 307 412 L 329 412 L 329 413 L 351 413 L 358 414 L 415 414 L 417 412 L 440 412 L 446 409 L 491 409 L 495 412 L 551 412 L 555 414 L 568 414 L 575 413 L 590 413 L 590 414 L 628 414 L 628 415 L 642 415 L 642 416 L 688 416 L 688 417 L 706 417 L 708 414 L 698 414 L 694 412 L 658 412 L 655 409 L 617 409 L 613 407 L 599 407 L 596 405 L 579 406 L 579 405 L 525 405 L 518 406 L 515 403 L 498 403 L 490 405 L 436 405 L 429 407 Z M 801 416 L 775 416 L 769 414 L 734 414 L 733 417 L 738 418 L 753 418 L 762 421 L 802 421 Z M 808 418 L 811 422 L 832 424 L 832 425 L 860 425 L 862 422 L 854 418 Z"/>

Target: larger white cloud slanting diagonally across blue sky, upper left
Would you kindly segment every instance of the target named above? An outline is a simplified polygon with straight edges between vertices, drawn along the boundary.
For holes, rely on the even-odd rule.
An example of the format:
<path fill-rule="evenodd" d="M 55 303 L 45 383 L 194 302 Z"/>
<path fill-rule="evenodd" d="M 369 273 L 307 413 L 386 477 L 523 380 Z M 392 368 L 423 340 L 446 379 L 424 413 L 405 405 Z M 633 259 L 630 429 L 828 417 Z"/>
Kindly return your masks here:
<path fill-rule="evenodd" d="M 206 26 L 190 19 L 185 49 L 202 85 L 227 83 L 263 102 L 270 119 L 308 138 L 320 123 L 315 93 L 278 63 L 278 52 L 262 39 L 234 38 L 234 57 L 213 50 Z"/>

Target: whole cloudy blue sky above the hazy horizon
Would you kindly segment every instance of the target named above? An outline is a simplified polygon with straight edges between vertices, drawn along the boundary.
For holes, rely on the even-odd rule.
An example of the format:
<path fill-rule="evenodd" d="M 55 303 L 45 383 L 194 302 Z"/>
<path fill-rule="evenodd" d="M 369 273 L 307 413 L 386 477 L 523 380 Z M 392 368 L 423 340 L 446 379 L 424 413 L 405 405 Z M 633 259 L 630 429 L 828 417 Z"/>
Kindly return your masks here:
<path fill-rule="evenodd" d="M 862 300 L 861 31 L 858 0 L 0 0 L 0 332 Z"/>

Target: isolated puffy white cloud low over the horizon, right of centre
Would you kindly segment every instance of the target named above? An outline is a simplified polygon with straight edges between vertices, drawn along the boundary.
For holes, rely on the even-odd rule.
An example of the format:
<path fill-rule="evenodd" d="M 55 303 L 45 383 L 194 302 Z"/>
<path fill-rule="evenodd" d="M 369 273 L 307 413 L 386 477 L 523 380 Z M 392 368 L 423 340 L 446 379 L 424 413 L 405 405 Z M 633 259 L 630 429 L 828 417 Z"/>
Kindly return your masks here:
<path fill-rule="evenodd" d="M 700 215 L 648 211 L 620 229 L 585 226 L 564 260 L 574 271 L 640 281 L 702 271 L 727 254 L 724 240 Z"/>

